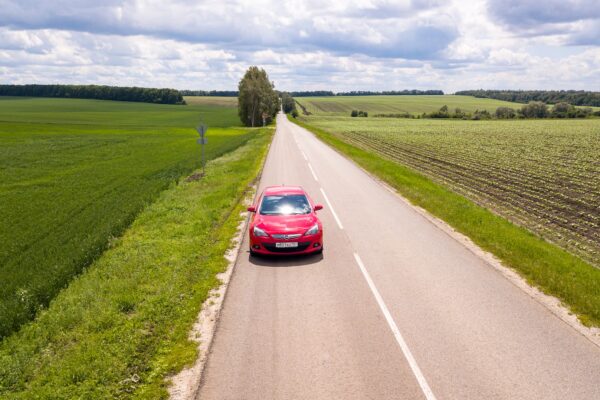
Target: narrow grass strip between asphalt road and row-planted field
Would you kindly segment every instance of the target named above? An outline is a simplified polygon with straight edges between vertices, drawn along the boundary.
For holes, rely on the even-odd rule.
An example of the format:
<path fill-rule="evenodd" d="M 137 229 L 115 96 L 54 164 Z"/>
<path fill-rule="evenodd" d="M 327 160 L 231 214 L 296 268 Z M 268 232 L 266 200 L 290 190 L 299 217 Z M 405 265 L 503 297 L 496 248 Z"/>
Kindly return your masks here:
<path fill-rule="evenodd" d="M 530 284 L 559 298 L 585 325 L 600 326 L 600 269 L 398 162 L 348 143 L 343 136 L 292 121 L 470 237 Z"/>

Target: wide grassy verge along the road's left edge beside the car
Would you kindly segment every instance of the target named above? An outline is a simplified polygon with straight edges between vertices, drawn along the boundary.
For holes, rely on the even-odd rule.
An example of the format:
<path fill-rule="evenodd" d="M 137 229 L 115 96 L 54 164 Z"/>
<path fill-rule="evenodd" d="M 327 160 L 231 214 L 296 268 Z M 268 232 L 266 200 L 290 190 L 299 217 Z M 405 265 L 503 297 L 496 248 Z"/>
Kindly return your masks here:
<path fill-rule="evenodd" d="M 162 192 L 35 321 L 0 343 L 0 398 L 166 398 L 272 129 Z M 232 179 L 235 177 L 235 179 Z"/>

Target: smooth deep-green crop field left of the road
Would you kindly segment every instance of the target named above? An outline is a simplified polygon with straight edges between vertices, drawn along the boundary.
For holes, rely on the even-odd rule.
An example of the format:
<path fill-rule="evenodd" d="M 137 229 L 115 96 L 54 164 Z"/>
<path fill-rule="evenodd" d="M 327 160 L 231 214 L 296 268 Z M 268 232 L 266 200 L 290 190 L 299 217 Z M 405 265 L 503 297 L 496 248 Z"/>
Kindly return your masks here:
<path fill-rule="evenodd" d="M 235 108 L 0 98 L 0 338 L 30 320 L 158 194 L 248 141 Z"/>

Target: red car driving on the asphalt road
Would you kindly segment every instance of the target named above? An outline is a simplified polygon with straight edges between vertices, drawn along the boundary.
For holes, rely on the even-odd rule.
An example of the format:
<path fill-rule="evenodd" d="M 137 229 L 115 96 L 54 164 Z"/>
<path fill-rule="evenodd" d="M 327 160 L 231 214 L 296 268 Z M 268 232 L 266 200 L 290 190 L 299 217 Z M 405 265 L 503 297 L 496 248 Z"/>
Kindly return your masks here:
<path fill-rule="evenodd" d="M 250 254 L 310 254 L 323 251 L 323 225 L 310 196 L 298 186 L 266 188 L 250 221 Z"/>

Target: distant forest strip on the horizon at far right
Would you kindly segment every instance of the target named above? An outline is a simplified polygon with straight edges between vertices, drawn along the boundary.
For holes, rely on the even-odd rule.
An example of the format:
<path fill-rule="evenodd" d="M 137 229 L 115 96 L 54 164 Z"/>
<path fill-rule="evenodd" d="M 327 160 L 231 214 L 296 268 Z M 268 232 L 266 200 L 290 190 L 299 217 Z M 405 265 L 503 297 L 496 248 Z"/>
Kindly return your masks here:
<path fill-rule="evenodd" d="M 575 106 L 600 107 L 600 92 L 584 90 L 463 90 L 457 95 L 475 96 L 496 100 L 529 103 L 543 101 L 547 104 L 569 103 Z"/>

